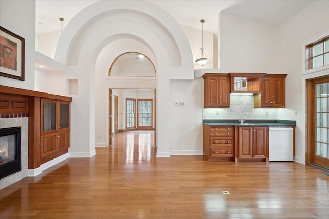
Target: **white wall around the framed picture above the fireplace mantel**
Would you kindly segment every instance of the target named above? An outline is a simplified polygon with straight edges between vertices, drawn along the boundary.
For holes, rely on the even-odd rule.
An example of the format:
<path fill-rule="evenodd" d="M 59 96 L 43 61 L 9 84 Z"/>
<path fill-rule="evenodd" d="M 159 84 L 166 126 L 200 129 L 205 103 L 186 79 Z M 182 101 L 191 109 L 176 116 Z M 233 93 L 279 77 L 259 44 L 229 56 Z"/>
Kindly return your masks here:
<path fill-rule="evenodd" d="M 34 90 L 35 1 L 1 0 L 0 26 L 25 39 L 25 81 L 0 76 L 0 85 Z"/>

